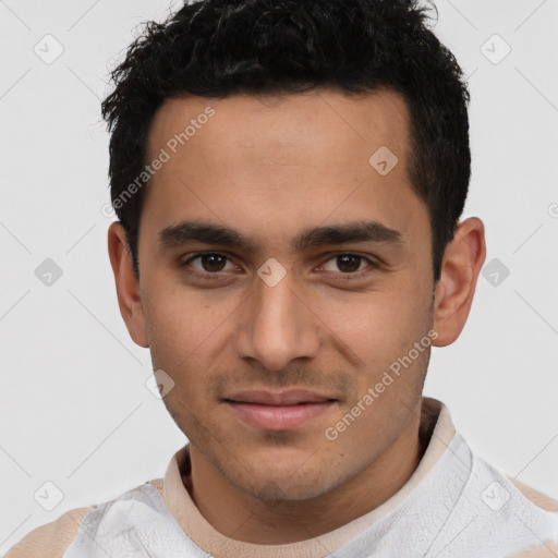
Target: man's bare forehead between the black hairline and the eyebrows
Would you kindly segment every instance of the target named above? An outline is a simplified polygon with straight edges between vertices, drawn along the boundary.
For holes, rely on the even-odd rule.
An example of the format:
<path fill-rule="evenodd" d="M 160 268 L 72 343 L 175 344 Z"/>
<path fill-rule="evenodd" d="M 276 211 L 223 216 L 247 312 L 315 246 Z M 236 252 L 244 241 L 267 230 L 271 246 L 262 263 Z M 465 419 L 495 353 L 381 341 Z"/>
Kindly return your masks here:
<path fill-rule="evenodd" d="M 328 219 L 404 232 L 426 211 L 411 187 L 409 149 L 407 104 L 389 90 L 170 99 L 149 131 L 148 160 L 166 161 L 142 221 L 160 230 L 209 218 L 263 242 Z"/>

